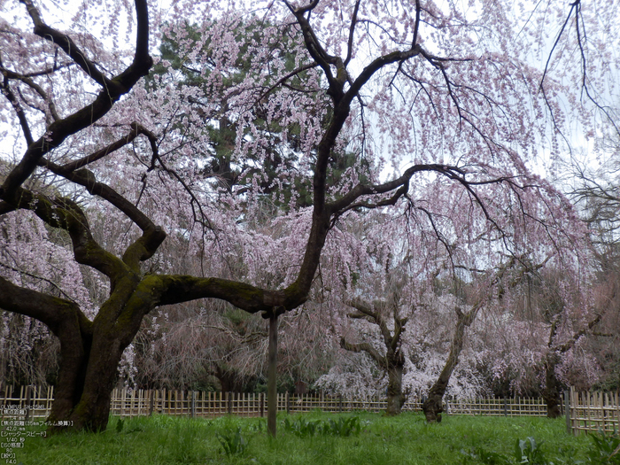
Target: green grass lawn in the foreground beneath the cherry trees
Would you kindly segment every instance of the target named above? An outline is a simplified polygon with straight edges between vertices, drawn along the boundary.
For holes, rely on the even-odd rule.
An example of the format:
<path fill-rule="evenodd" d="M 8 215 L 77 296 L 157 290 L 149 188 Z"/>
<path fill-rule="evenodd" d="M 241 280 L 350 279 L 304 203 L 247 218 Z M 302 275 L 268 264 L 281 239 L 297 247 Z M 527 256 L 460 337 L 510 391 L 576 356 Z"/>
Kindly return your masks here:
<path fill-rule="evenodd" d="M 103 433 L 68 432 L 51 438 L 27 438 L 15 449 L 23 464 L 475 464 L 489 463 L 484 453 L 515 455 L 515 441 L 535 438 L 546 460 L 554 465 L 588 463 L 589 438 L 573 438 L 565 422 L 535 417 L 446 416 L 428 425 L 422 415 L 359 416 L 359 434 L 339 437 L 325 428 L 303 436 L 285 430 L 297 422 L 327 424 L 338 415 L 314 412 L 303 417 L 279 415 L 278 438 L 267 437 L 260 418 L 221 417 L 213 420 L 165 415 L 112 418 Z M 482 452 L 481 452 L 482 451 Z M 4 452 L 4 451 L 3 451 Z M 482 455 L 481 455 L 482 453 Z M 469 457 L 466 455 L 469 454 Z M 486 461 L 482 461 L 486 460 Z M 511 463 L 517 463 L 511 459 Z M 3 461 L 4 463 L 4 461 Z"/>

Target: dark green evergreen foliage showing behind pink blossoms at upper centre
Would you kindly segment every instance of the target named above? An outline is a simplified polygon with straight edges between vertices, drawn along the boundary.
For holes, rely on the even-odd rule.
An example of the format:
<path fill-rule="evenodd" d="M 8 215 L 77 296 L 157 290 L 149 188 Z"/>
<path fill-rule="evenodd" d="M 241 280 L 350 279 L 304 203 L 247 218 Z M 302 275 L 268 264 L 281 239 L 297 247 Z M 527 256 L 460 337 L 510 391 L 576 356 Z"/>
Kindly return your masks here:
<path fill-rule="evenodd" d="M 266 36 L 265 31 L 268 29 L 268 27 L 258 27 L 257 23 L 252 22 L 236 25 L 235 30 L 232 31 L 236 42 L 240 45 L 235 60 L 236 67 L 234 70 L 229 70 L 229 73 L 222 74 L 220 89 L 231 89 L 243 82 L 248 75 L 255 73 L 252 68 L 252 61 L 248 58 L 252 55 L 248 53 L 250 43 L 268 44 L 274 50 L 274 59 L 283 60 L 287 71 L 292 72 L 296 68 L 295 55 L 287 50 L 292 50 L 295 43 L 303 42 L 303 39 L 300 38 L 300 32 L 291 28 L 288 34 L 273 37 Z M 200 95 L 208 96 L 211 103 L 213 101 L 220 102 L 219 109 L 213 110 L 213 105 L 211 105 L 211 110 L 207 111 L 205 110 L 207 105 L 200 101 L 199 97 L 190 97 L 189 101 L 191 105 L 197 108 L 198 112 L 203 112 L 202 131 L 208 135 L 210 141 L 210 150 L 197 154 L 203 159 L 202 174 L 205 179 L 211 180 L 214 189 L 223 188 L 232 192 L 236 188 L 237 193 L 244 194 L 250 188 L 252 178 L 255 177 L 259 180 L 258 184 L 265 208 L 271 205 L 275 209 L 286 211 L 291 206 L 293 196 L 295 196 L 294 206 L 296 208 L 312 205 L 311 171 L 302 169 L 299 163 L 301 150 L 301 128 L 299 125 L 284 125 L 283 120 L 273 118 L 269 118 L 267 121 L 266 112 L 261 109 L 261 104 L 255 105 L 252 110 L 252 124 L 263 136 L 270 137 L 271 143 L 269 143 L 266 154 L 257 156 L 252 152 L 246 153 L 242 163 L 235 154 L 236 140 L 239 136 L 237 132 L 241 129 L 238 128 L 234 120 L 229 118 L 227 113 L 228 97 L 218 96 L 218 89 L 213 89 L 209 84 L 208 78 L 213 72 L 208 66 L 213 54 L 211 41 L 200 36 L 196 25 L 187 24 L 185 30 L 187 36 L 183 40 L 187 41 L 189 38 L 193 43 L 201 44 L 198 52 L 201 56 L 200 64 L 193 63 L 190 56 L 179 53 L 178 39 L 174 32 L 169 32 L 162 37 L 159 49 L 161 60 L 159 64 L 153 67 L 151 75 L 147 79 L 147 86 L 152 89 L 161 85 L 161 82 L 166 82 L 165 74 L 170 73 L 170 69 L 172 69 L 177 71 L 180 76 L 175 78 L 176 85 L 198 88 L 201 91 Z M 191 53 L 196 51 L 195 48 L 189 48 L 189 50 Z M 164 66 L 164 62 L 169 62 L 171 67 Z M 159 79 L 155 79 L 155 76 Z M 307 71 L 304 71 L 291 78 L 289 85 L 303 89 L 313 79 Z M 269 77 L 264 75 L 257 76 L 257 81 L 260 81 L 265 88 L 273 84 L 269 81 Z M 322 97 L 317 96 L 316 98 Z M 318 106 L 324 106 L 325 111 L 329 112 L 327 101 L 325 105 L 319 104 Z M 178 122 L 175 124 L 181 128 L 184 124 L 182 115 L 179 115 Z M 194 134 L 199 133 L 194 131 Z M 309 168 L 314 169 L 314 164 L 311 163 Z M 368 181 L 369 166 L 366 160 L 359 160 L 357 154 L 352 152 L 333 153 L 329 160 L 329 184 L 337 186 L 343 180 L 345 172 L 352 168 L 358 171 L 357 177 L 360 182 Z M 285 179 L 280 177 L 282 173 L 287 173 Z M 334 195 L 338 197 L 337 193 Z"/>

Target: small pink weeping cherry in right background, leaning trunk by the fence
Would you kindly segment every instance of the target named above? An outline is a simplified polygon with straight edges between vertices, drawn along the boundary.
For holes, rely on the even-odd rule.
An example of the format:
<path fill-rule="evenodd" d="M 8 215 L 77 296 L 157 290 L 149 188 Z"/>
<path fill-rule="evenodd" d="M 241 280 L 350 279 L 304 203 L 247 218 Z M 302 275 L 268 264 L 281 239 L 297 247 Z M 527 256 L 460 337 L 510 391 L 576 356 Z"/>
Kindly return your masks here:
<path fill-rule="evenodd" d="M 502 296 L 486 316 L 486 334 L 478 335 L 487 347 L 480 359 L 509 391 L 542 396 L 547 416 L 556 418 L 562 415 L 566 372 L 578 369 L 572 381 L 583 387 L 596 379 L 594 354 L 579 360 L 575 351 L 583 352 L 580 343 L 597 330 L 615 291 L 594 283 L 592 262 L 558 260 L 530 268 L 510 285 L 515 297 Z"/>

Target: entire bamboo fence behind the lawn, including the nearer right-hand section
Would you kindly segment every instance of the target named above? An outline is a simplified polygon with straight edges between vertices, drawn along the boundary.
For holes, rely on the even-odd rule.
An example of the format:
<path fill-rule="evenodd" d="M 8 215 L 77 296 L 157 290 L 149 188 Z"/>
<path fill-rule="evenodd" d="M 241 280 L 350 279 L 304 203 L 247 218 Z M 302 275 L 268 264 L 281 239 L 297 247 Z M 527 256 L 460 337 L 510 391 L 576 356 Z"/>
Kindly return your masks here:
<path fill-rule="evenodd" d="M 43 419 L 50 415 L 54 399 L 51 386 L 0 385 L 0 418 Z M 319 394 L 278 394 L 278 411 L 301 414 L 320 409 L 323 412 L 383 412 L 386 399 L 344 399 Z M 129 390 L 112 391 L 111 415 L 185 415 L 216 417 L 221 415 L 264 416 L 265 394 L 206 391 Z M 421 399 L 407 399 L 405 411 L 422 409 Z M 450 399 L 444 406 L 447 415 L 545 416 L 543 399 Z M 564 391 L 567 430 L 582 432 L 620 430 L 620 395 L 615 392 Z"/>

